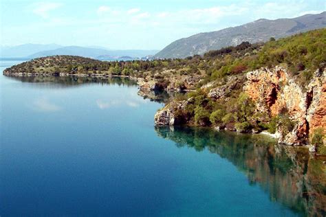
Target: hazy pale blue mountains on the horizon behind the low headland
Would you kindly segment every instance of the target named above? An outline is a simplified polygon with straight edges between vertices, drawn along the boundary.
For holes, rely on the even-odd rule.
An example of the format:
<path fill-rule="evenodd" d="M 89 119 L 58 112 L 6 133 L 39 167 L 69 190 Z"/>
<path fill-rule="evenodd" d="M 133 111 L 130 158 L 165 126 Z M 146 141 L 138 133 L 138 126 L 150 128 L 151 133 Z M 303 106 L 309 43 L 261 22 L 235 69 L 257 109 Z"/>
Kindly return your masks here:
<path fill-rule="evenodd" d="M 156 54 L 158 50 L 109 50 L 101 47 L 61 46 L 56 44 L 39 45 L 25 44 L 14 47 L 1 47 L 1 58 L 39 58 L 54 55 L 73 55 L 95 58 L 100 60 L 120 60 L 124 58 L 146 58 Z"/>

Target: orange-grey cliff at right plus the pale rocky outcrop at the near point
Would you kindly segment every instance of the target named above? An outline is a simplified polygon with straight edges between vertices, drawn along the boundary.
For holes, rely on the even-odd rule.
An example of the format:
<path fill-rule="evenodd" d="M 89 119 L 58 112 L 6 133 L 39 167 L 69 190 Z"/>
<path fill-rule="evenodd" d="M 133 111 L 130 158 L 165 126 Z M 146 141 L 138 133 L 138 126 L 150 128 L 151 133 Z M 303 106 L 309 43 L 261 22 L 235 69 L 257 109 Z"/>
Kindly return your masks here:
<path fill-rule="evenodd" d="M 213 84 L 212 84 L 213 85 Z M 207 96 L 221 103 L 230 101 L 232 93 L 246 93 L 254 104 L 254 115 L 260 114 L 262 122 L 275 117 L 286 117 L 287 122 L 276 124 L 279 143 L 287 145 L 309 144 L 309 135 L 316 128 L 326 129 L 326 71 L 317 70 L 309 84 L 302 85 L 296 76 L 283 67 L 261 68 L 244 76 L 230 76 L 225 84 L 211 88 L 207 85 Z M 238 91 L 238 92 L 237 92 Z M 155 114 L 156 125 L 189 124 L 180 115 L 193 98 L 171 102 Z M 253 116 L 254 116 L 253 115 Z M 232 128 L 235 129 L 235 128 Z M 252 128 L 252 132 L 259 132 Z"/>

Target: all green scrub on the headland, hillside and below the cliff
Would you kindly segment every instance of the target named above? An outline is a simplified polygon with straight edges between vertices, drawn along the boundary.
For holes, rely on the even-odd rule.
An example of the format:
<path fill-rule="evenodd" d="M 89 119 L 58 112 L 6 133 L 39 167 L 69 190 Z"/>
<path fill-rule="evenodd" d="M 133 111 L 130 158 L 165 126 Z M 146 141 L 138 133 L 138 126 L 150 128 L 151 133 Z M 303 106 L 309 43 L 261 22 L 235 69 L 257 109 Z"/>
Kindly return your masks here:
<path fill-rule="evenodd" d="M 276 65 L 287 67 L 292 71 L 293 78 L 307 84 L 316 69 L 325 67 L 325 50 L 326 29 L 322 29 L 279 40 L 270 38 L 267 43 L 243 42 L 235 47 L 185 59 L 103 62 L 77 56 L 52 56 L 23 62 L 6 69 L 5 73 L 131 76 L 153 80 L 161 89 L 166 89 L 174 80 L 174 88 L 196 90 L 186 95 L 188 103 L 185 109 L 175 111 L 180 124 L 221 126 L 240 132 L 268 130 L 270 133 L 275 133 L 276 128 L 281 126 L 279 130 L 286 134 L 295 123 L 286 115 L 272 118 L 257 113 L 252 100 L 243 93 L 242 85 L 226 91 L 223 99 L 208 97 L 208 91 L 221 87 L 231 78 L 243 79 L 247 71 Z M 186 83 L 186 80 L 195 77 L 200 82 Z M 208 82 L 215 83 L 208 89 L 200 89 Z"/>

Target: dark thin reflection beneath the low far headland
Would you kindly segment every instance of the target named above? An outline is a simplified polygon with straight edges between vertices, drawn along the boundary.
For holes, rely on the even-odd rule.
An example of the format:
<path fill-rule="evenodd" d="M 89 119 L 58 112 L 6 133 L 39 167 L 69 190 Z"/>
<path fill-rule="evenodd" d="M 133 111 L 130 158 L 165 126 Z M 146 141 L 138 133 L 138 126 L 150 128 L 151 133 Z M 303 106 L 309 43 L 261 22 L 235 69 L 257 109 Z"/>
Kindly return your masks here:
<path fill-rule="evenodd" d="M 58 84 L 60 87 L 73 87 L 80 84 L 118 84 L 123 86 L 137 86 L 137 82 L 130 80 L 129 78 L 119 77 L 107 77 L 107 78 L 96 78 L 96 77 L 74 77 L 74 76 L 21 76 L 21 77 L 10 77 L 14 80 L 20 80 L 21 82 L 40 83 L 40 86 L 46 87 L 48 84 Z"/>

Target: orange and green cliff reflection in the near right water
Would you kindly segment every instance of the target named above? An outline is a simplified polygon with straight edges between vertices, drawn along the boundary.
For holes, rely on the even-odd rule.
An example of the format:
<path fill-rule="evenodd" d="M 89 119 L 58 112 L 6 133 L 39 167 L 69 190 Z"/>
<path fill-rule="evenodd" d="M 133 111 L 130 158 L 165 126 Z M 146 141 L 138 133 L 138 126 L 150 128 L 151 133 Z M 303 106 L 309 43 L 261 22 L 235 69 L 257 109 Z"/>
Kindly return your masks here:
<path fill-rule="evenodd" d="M 176 146 L 204 148 L 228 159 L 259 184 L 270 200 L 309 216 L 326 214 L 326 171 L 321 159 L 309 157 L 305 148 L 277 145 L 261 135 L 217 133 L 208 128 L 155 128 L 157 135 Z M 323 171 L 320 171 L 323 170 Z"/>

